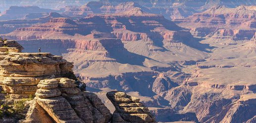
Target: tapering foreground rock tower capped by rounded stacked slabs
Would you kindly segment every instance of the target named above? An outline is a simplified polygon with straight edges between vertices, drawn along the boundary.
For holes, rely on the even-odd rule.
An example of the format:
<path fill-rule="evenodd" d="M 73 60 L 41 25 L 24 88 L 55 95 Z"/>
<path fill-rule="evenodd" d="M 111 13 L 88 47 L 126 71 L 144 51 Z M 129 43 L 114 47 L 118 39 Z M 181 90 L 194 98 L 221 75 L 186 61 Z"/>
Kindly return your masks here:
<path fill-rule="evenodd" d="M 111 114 L 101 99 L 76 86 L 68 78 L 41 80 L 24 123 L 108 123 Z"/>

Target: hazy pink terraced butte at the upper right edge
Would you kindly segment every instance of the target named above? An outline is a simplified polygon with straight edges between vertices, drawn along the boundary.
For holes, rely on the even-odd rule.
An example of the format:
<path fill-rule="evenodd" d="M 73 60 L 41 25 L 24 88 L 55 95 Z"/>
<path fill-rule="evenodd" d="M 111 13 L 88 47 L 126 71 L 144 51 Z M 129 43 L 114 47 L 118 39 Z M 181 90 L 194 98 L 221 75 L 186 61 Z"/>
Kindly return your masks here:
<path fill-rule="evenodd" d="M 188 18 L 176 19 L 174 22 L 191 29 L 196 36 L 250 40 L 255 33 L 255 15 L 255 6 L 214 6 Z"/>

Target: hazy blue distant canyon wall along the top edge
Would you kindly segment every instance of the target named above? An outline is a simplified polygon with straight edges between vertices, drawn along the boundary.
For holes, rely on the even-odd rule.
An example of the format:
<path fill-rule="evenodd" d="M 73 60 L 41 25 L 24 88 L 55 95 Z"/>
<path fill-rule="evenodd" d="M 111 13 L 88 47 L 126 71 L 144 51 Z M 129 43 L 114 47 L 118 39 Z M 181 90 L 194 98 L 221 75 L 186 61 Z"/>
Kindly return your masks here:
<path fill-rule="evenodd" d="M 149 13 L 161 14 L 166 19 L 174 20 L 186 18 L 194 13 L 203 12 L 214 5 L 225 5 L 234 8 L 239 5 L 254 4 L 255 1 L 252 0 L 233 0 L 232 2 L 219 0 L 99 0 L 90 1 L 79 7 L 67 6 L 63 14 L 73 17 L 82 17 L 98 13 L 119 13 L 140 7 Z"/>

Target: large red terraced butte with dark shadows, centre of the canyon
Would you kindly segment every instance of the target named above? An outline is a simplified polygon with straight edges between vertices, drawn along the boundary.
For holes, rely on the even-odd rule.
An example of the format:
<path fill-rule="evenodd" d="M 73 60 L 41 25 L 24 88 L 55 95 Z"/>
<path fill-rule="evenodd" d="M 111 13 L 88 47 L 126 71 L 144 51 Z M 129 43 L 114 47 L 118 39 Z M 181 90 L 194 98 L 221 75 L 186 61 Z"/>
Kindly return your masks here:
<path fill-rule="evenodd" d="M 41 43 L 43 50 L 58 55 L 65 53 L 64 58 L 74 62 L 77 73 L 83 78 L 142 71 L 153 73 L 155 68 L 170 68 L 168 63 L 173 61 L 190 58 L 197 61 L 206 57 L 192 43 L 194 39 L 189 31 L 141 8 L 92 15 L 79 21 L 53 18 L 45 24 L 18 28 L 3 36 L 20 40 L 21 44 L 26 44 L 27 51 L 37 50 L 34 44 Z M 105 67 L 96 70 L 94 66 L 97 64 Z M 124 66 L 129 69 L 122 69 Z"/>

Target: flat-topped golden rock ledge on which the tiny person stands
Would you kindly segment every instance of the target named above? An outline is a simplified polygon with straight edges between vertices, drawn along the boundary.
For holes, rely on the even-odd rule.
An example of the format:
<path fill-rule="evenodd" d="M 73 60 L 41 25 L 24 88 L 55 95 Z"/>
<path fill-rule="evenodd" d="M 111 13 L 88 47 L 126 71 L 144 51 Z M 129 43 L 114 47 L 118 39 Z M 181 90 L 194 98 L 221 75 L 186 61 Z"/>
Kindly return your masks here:
<path fill-rule="evenodd" d="M 73 64 L 50 53 L 21 53 L 15 41 L 0 47 L 0 87 L 16 97 L 34 94 L 40 80 L 73 75 Z M 18 95 L 18 96 L 17 96 Z"/>

